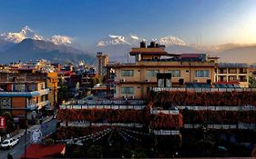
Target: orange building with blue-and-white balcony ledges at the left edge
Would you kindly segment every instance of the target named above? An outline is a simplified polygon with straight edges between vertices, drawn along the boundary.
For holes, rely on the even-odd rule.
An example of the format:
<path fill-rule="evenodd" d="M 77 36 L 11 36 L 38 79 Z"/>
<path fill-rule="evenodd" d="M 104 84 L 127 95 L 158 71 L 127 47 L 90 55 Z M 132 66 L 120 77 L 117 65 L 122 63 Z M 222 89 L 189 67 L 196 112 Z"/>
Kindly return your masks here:
<path fill-rule="evenodd" d="M 0 88 L 0 108 L 16 117 L 24 117 L 27 109 L 27 118 L 31 119 L 32 111 L 43 110 L 50 104 L 50 90 L 45 82 L 0 82 Z"/>

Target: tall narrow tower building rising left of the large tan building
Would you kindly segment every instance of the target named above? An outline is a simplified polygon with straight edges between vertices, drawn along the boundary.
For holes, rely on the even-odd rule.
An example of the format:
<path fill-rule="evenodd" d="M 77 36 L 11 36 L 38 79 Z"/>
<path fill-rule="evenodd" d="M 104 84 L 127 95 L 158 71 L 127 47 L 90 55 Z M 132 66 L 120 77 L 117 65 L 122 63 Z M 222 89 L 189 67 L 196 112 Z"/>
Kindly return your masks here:
<path fill-rule="evenodd" d="M 98 52 L 96 59 L 97 75 L 107 75 L 106 65 L 108 65 L 108 55 L 103 55 L 101 52 Z"/>

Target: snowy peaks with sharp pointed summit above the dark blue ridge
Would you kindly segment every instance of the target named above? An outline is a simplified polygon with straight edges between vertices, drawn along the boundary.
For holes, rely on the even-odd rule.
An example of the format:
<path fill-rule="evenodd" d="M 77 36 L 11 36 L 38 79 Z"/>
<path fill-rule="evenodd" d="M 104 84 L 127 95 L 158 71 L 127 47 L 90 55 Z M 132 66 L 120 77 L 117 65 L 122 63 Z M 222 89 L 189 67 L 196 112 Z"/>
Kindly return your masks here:
<path fill-rule="evenodd" d="M 23 27 L 19 32 L 1 34 L 0 39 L 12 43 L 20 43 L 24 39 L 45 40 L 53 42 L 55 45 L 70 45 L 72 42 L 72 38 L 67 35 L 53 35 L 50 38 L 43 37 L 42 35 L 36 34 L 28 25 Z"/>

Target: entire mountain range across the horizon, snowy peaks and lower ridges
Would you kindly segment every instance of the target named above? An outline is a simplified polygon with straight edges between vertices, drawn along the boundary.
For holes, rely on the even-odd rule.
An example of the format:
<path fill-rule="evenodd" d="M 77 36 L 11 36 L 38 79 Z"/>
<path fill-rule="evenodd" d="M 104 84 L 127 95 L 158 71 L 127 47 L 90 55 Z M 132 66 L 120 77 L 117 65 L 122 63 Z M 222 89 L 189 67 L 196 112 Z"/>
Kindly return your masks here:
<path fill-rule="evenodd" d="M 220 62 L 256 63 L 256 45 L 225 44 L 225 45 L 188 45 L 179 37 L 168 35 L 158 39 L 146 39 L 138 35 L 108 35 L 88 46 L 87 51 L 72 46 L 73 38 L 67 35 L 44 37 L 25 26 L 17 33 L 0 35 L 0 63 L 47 59 L 52 62 L 78 63 L 84 60 L 91 65 L 95 62 L 97 52 L 108 54 L 110 61 L 127 62 L 131 59 L 128 52 L 138 47 L 141 41 L 147 45 L 155 41 L 166 45 L 166 51 L 174 54 L 205 53 L 219 56 Z"/>

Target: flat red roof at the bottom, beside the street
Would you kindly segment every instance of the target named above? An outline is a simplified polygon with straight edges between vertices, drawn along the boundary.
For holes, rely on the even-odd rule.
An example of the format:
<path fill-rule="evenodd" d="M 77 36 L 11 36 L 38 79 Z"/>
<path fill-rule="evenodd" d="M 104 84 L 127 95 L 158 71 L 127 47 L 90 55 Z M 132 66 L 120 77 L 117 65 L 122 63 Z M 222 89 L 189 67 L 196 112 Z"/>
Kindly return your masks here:
<path fill-rule="evenodd" d="M 26 148 L 26 157 L 25 154 L 23 154 L 21 158 L 49 158 L 56 154 L 63 154 L 65 150 L 65 144 L 30 144 Z"/>

